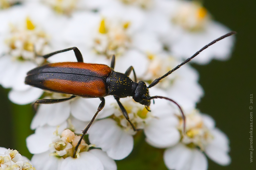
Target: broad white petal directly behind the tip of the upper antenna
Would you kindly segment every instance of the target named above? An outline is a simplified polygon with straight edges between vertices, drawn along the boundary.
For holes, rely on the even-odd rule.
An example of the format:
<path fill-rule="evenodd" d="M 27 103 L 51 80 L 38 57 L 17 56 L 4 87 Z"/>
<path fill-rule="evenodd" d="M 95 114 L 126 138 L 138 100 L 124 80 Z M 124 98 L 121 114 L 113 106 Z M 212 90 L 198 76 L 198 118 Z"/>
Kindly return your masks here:
<path fill-rule="evenodd" d="M 200 32 L 186 32 L 182 31 L 178 33 L 179 39 L 176 39 L 171 44 L 171 51 L 174 56 L 182 56 L 187 58 L 193 55 L 196 51 L 201 49 L 203 46 L 209 44 L 214 39 L 228 33 L 230 30 L 223 26 L 222 24 L 211 21 L 208 23 L 205 31 Z M 196 43 L 195 43 L 196 42 Z M 198 64 L 208 64 L 213 58 L 217 60 L 227 60 L 230 57 L 232 51 L 234 36 L 225 38 L 214 45 L 212 45 L 207 50 L 202 51 L 198 56 L 196 56 L 192 62 L 197 62 Z"/>

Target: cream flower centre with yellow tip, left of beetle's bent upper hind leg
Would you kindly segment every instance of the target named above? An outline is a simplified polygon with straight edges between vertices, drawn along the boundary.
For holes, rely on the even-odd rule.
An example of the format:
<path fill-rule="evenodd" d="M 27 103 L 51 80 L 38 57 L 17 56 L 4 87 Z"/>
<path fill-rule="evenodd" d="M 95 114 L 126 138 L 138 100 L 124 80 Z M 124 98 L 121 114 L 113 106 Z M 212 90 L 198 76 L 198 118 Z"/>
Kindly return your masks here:
<path fill-rule="evenodd" d="M 36 27 L 29 17 L 26 18 L 25 27 L 10 24 L 10 32 L 6 37 L 8 53 L 13 60 L 29 60 L 39 65 L 44 62 L 44 59 L 37 55 L 43 55 L 44 49 L 48 46 L 49 37 Z"/>

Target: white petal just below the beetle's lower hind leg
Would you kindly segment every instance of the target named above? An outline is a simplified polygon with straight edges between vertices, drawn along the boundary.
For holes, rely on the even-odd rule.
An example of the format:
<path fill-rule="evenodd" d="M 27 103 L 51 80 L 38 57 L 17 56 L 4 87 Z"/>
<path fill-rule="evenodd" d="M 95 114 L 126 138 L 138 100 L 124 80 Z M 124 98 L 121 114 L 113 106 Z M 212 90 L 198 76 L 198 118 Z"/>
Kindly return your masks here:
<path fill-rule="evenodd" d="M 65 122 L 70 115 L 70 102 L 41 104 L 32 120 L 31 129 L 45 124 L 56 126 Z"/>

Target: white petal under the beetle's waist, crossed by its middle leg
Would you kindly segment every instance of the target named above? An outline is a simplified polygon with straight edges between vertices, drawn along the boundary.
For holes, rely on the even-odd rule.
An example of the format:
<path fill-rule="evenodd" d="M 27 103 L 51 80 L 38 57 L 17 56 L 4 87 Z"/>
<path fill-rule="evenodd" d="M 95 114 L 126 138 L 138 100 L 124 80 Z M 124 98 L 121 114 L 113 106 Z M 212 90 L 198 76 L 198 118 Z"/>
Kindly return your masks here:
<path fill-rule="evenodd" d="M 71 114 L 81 121 L 90 121 L 96 113 L 100 102 L 99 98 L 75 99 L 71 102 Z"/>

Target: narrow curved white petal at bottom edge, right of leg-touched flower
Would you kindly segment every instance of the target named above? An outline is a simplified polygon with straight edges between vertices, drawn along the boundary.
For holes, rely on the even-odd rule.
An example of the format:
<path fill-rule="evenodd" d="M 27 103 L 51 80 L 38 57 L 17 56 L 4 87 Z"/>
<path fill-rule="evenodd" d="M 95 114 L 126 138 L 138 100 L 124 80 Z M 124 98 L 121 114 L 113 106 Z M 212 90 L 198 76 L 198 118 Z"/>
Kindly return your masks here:
<path fill-rule="evenodd" d="M 104 170 L 116 170 L 117 166 L 113 159 L 111 159 L 105 152 L 100 149 L 92 149 L 89 151 L 94 154 L 104 166 Z"/>

